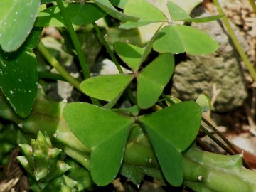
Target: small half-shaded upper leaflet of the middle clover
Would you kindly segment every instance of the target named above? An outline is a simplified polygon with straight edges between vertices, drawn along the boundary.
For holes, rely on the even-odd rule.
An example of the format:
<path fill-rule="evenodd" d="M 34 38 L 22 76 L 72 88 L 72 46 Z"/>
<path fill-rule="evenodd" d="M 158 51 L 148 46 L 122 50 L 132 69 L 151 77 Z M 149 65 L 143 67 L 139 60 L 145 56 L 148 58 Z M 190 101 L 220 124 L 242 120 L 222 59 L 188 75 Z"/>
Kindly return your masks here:
<path fill-rule="evenodd" d="M 144 54 L 144 48 L 122 42 L 115 42 L 113 46 L 117 55 L 122 58 L 124 63 L 127 63 L 134 72 L 139 70 L 142 55 Z"/>

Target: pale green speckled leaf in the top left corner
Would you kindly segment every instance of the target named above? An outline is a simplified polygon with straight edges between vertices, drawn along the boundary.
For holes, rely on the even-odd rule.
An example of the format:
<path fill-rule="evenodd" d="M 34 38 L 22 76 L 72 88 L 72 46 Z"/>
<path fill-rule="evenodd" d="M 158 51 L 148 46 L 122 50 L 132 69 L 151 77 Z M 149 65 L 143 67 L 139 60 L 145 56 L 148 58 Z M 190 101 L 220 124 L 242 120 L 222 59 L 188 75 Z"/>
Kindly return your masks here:
<path fill-rule="evenodd" d="M 17 50 L 36 20 L 40 0 L 0 1 L 0 45 L 6 52 Z"/>

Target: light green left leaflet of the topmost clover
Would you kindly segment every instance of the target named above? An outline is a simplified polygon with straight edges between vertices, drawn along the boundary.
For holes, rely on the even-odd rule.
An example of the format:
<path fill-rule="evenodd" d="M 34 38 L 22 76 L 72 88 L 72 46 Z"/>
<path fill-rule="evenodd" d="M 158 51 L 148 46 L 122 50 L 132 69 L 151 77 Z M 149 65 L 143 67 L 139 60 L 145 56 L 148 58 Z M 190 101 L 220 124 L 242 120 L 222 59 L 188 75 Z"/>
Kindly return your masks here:
<path fill-rule="evenodd" d="M 136 7 L 136 9 L 134 9 Z M 137 22 L 123 23 L 120 28 L 136 28 L 150 23 L 168 21 L 162 11 L 146 0 L 129 0 L 124 6 L 124 14 L 139 18 Z"/>

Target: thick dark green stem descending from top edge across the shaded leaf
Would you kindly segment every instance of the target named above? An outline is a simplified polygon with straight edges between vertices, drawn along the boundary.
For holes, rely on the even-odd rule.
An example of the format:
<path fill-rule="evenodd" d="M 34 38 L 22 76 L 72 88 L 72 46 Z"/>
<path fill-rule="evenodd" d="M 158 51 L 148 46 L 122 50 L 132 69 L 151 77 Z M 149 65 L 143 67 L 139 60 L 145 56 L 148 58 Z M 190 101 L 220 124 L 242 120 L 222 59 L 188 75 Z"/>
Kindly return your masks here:
<path fill-rule="evenodd" d="M 60 9 L 60 14 L 61 16 L 63 16 L 64 21 L 65 21 L 65 26 L 68 29 L 68 33 L 70 34 L 70 38 L 73 41 L 74 47 L 75 47 L 75 51 L 78 55 L 78 60 L 80 62 L 80 66 L 82 68 L 82 73 L 85 76 L 85 79 L 90 78 L 90 69 L 89 69 L 89 65 L 85 59 L 85 56 L 82 53 L 82 48 L 80 45 L 80 42 L 78 40 L 78 36 L 75 33 L 75 30 L 73 28 L 73 25 L 70 21 L 70 18 L 68 17 L 66 11 L 65 11 L 65 7 L 63 5 L 63 1 L 62 0 L 56 0 L 58 7 Z"/>

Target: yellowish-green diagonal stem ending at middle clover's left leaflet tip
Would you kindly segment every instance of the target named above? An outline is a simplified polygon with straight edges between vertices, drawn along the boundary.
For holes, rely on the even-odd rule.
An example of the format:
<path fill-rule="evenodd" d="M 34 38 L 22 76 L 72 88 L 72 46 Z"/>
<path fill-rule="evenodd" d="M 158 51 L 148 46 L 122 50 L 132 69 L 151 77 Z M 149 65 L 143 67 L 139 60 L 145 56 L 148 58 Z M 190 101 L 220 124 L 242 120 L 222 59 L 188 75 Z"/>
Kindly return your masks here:
<path fill-rule="evenodd" d="M 62 65 L 60 65 L 58 60 L 56 60 L 56 58 L 54 58 L 53 55 L 51 55 L 50 51 L 46 48 L 46 46 L 43 45 L 41 41 L 39 41 L 37 48 L 41 52 L 41 54 L 46 58 L 48 63 L 50 63 L 50 65 L 52 65 L 53 68 L 55 68 L 58 71 L 58 73 L 60 73 L 60 75 L 63 76 L 63 78 L 65 78 L 65 80 L 70 82 L 71 85 L 73 85 L 77 90 L 82 92 L 82 90 L 80 89 L 80 82 L 73 78 L 68 73 L 68 71 L 65 70 L 65 68 L 63 68 Z"/>

